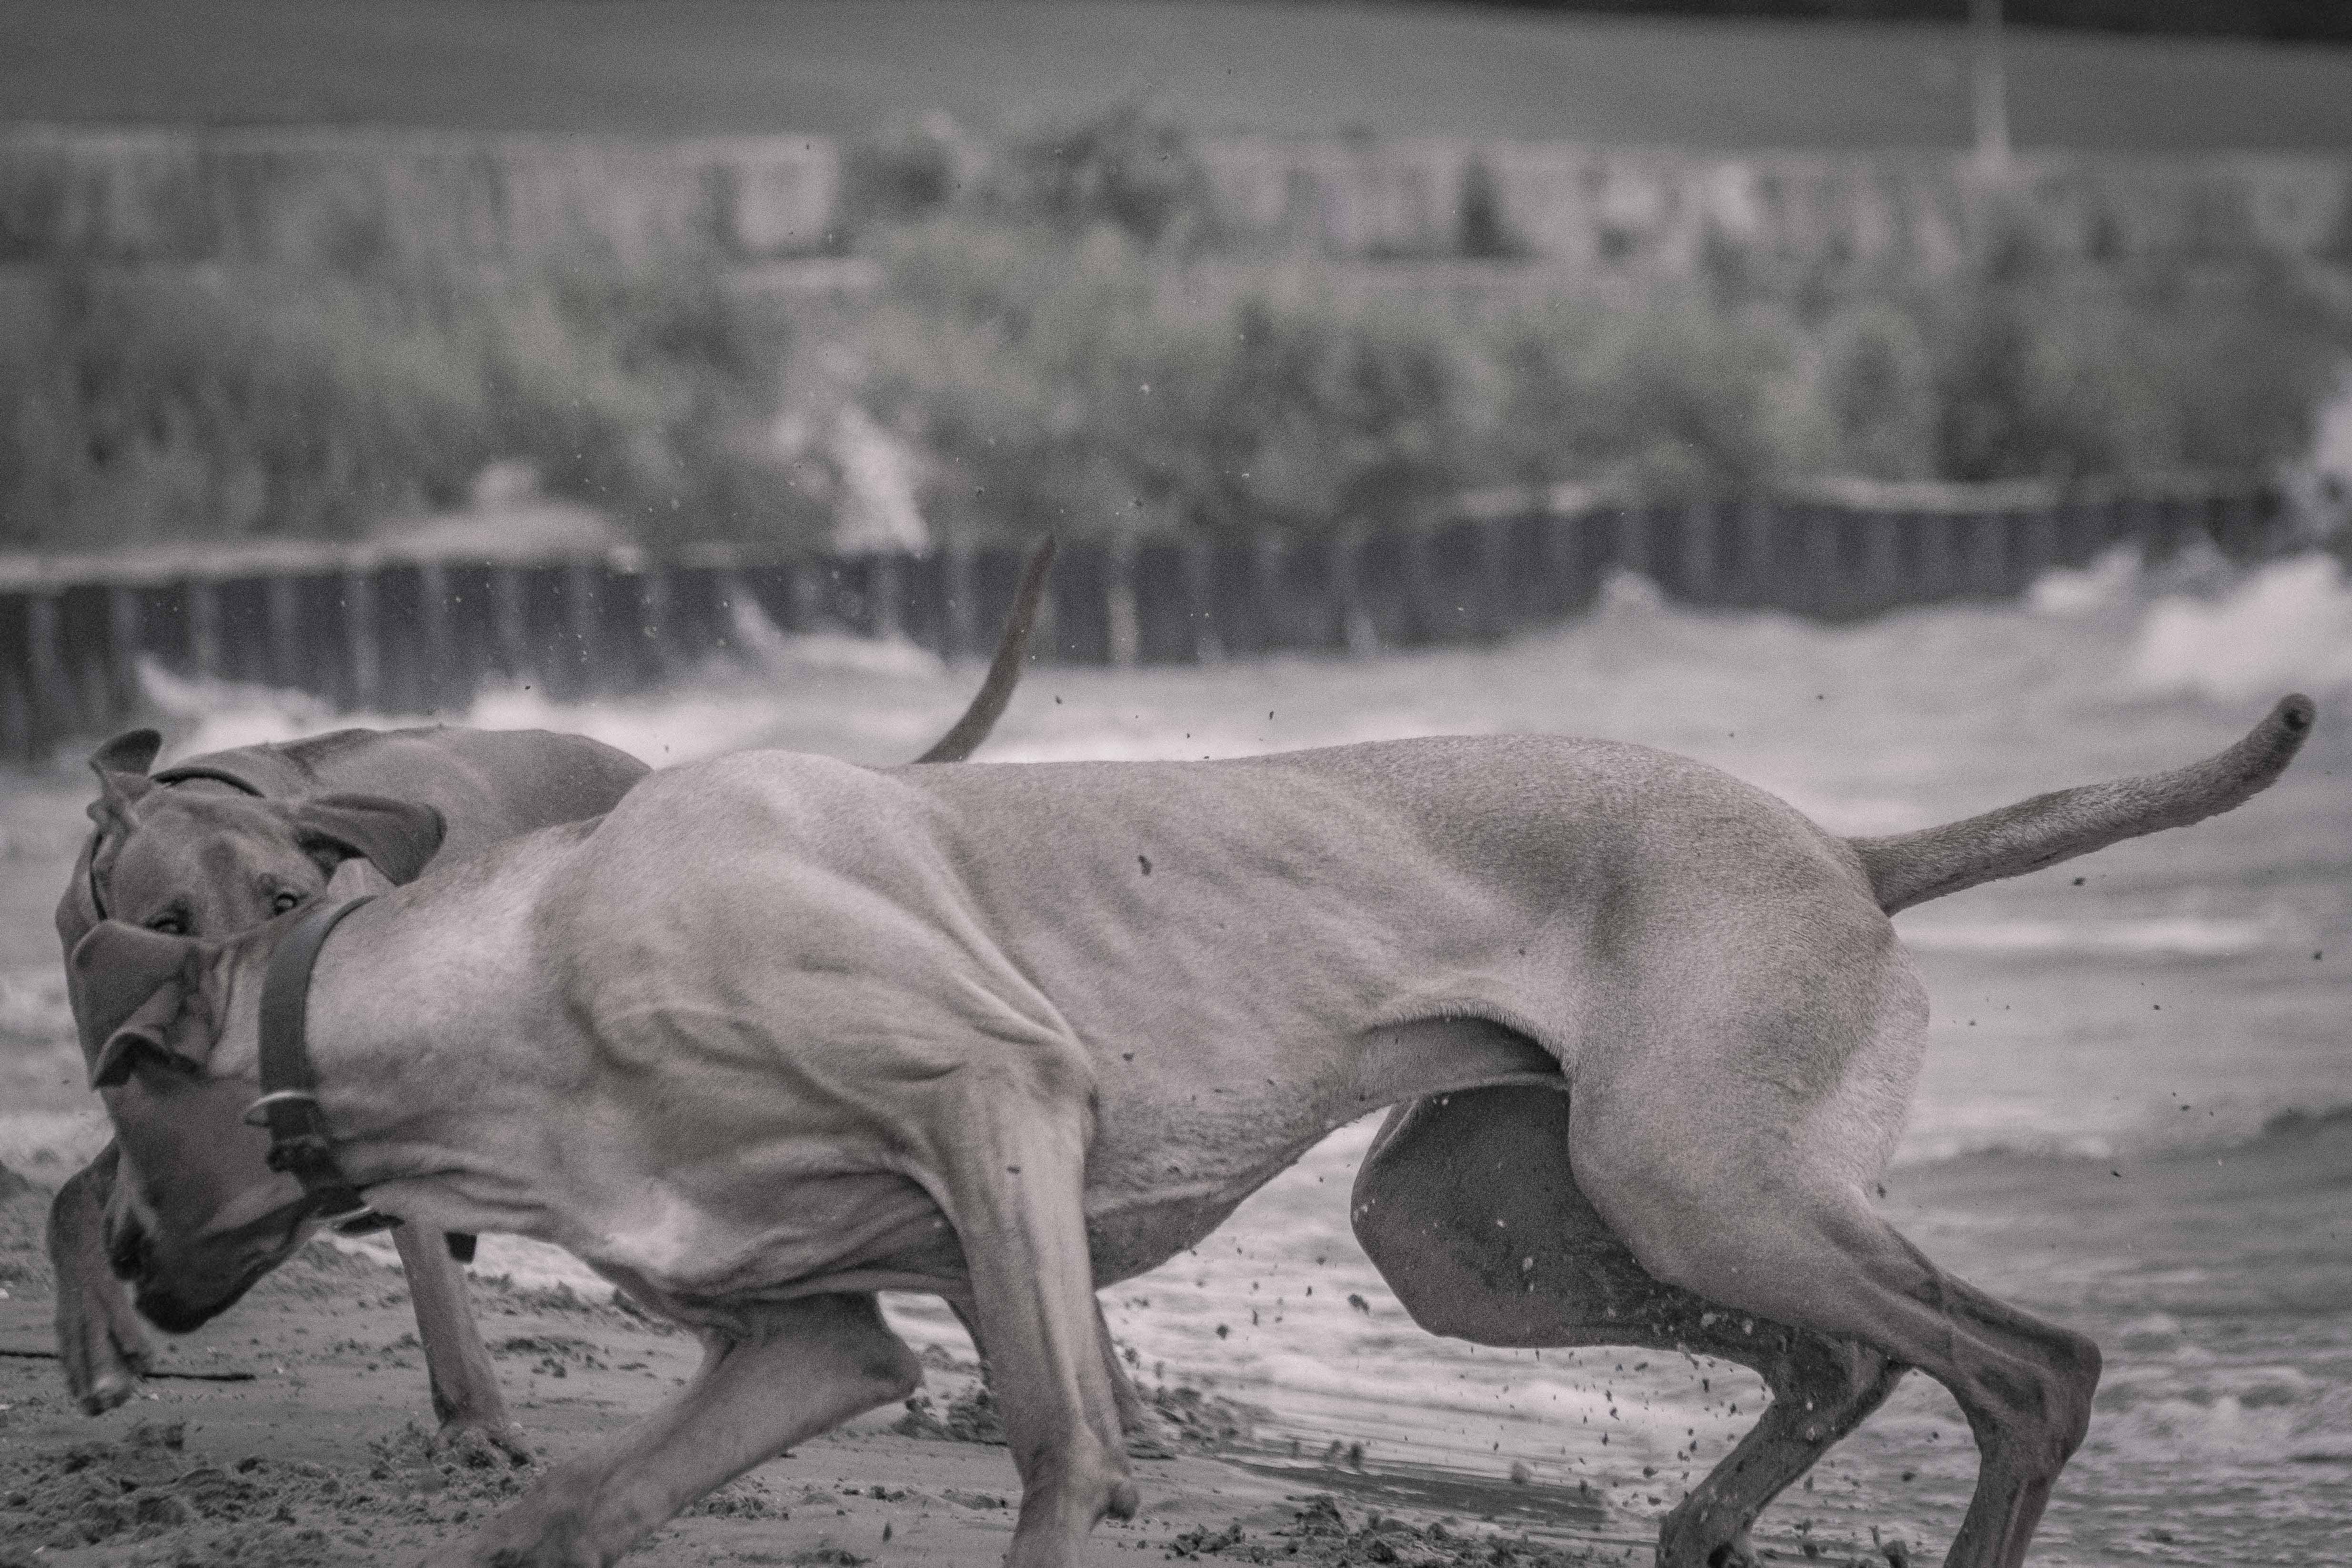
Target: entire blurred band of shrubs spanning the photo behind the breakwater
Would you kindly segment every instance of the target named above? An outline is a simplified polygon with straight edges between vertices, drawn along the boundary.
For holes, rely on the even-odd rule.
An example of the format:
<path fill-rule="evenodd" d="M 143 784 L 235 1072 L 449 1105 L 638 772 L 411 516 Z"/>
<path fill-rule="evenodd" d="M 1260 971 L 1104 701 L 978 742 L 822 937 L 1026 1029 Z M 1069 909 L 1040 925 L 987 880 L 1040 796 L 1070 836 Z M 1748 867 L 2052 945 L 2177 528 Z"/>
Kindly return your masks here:
<path fill-rule="evenodd" d="M 1221 233 L 1188 127 L 1134 106 L 861 136 L 837 209 L 849 292 L 590 242 L 12 270 L 0 548 L 348 538 L 499 458 L 656 548 L 818 548 L 840 463 L 788 433 L 849 404 L 955 536 L 1395 524 L 1503 484 L 2253 475 L 2352 350 L 2343 259 L 2084 259 L 2023 207 L 1933 273 L 1717 233 L 1689 273 L 1526 289 L 1472 169 L 1442 254 L 1336 270 Z"/>

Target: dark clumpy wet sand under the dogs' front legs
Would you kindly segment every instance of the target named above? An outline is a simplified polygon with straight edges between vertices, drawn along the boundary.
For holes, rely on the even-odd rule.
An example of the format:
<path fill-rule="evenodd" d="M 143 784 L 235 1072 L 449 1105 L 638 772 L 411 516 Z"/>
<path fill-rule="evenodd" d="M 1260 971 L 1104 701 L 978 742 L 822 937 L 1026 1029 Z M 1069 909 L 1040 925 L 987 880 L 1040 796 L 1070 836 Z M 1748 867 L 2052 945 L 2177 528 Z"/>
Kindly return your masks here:
<path fill-rule="evenodd" d="M 409 1563 L 461 1542 L 529 1479 L 485 1450 L 437 1450 L 421 1427 L 423 1361 L 400 1274 L 325 1241 L 214 1326 L 160 1347 L 125 1408 L 80 1415 L 49 1349 L 40 1258 L 47 1190 L 0 1175 L 0 1563 L 212 1568 Z M 501 1382 L 541 1458 L 576 1453 L 682 1382 L 694 1340 L 567 1288 L 477 1281 Z M 689 1563 L 993 1566 L 1018 1479 L 969 1413 L 976 1368 L 927 1354 L 931 1420 L 884 1408 L 762 1465 L 630 1556 Z M 1628 1561 L 1635 1537 L 1555 1488 L 1378 1476 L 1254 1453 L 1214 1401 L 1167 1392 L 1167 1458 L 1136 1462 L 1143 1512 L 1105 1521 L 1115 1552 L 1237 1561 Z M 962 1422 L 957 1422 L 962 1425 Z M 985 1420 L 981 1422 L 985 1427 Z M 1230 1458 L 1216 1458 L 1216 1450 Z M 1501 1547 L 1501 1559 L 1496 1549 Z"/>

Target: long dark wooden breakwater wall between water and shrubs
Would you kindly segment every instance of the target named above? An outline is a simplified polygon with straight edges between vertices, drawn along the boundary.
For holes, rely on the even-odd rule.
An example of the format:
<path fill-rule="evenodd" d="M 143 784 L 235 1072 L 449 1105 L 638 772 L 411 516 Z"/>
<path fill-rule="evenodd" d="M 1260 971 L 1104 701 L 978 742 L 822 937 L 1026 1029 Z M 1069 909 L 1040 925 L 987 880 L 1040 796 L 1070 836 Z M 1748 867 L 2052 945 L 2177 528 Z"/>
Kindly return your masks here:
<path fill-rule="evenodd" d="M 2002 599 L 2122 543 L 2291 543 L 2274 498 L 2147 496 L 1893 508 L 1494 503 L 1414 531 L 1070 543 L 1037 656 L 1204 663 L 1494 642 L 1592 604 L 1611 569 L 1682 604 L 1853 621 Z M 654 689 L 757 658 L 771 628 L 906 637 L 983 656 L 1021 550 L 762 559 L 741 550 L 562 559 L 261 545 L 183 557 L 0 559 L 0 759 L 38 762 L 139 715 L 139 665 L 303 691 L 343 712 L 454 715 L 489 682 L 555 698 Z M 753 614 L 755 611 L 755 614 Z"/>

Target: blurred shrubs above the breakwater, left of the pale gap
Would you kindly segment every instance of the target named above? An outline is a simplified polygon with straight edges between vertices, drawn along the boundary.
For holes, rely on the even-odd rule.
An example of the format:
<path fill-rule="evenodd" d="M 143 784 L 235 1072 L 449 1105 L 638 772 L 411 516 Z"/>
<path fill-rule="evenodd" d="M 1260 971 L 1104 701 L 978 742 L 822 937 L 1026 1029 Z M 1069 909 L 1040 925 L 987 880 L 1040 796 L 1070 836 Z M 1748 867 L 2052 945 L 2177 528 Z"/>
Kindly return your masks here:
<path fill-rule="evenodd" d="M 710 273 L 61 273 L 5 315 L 5 548 L 350 536 L 517 456 L 649 538 L 821 527 L 748 440 L 790 327 Z"/>

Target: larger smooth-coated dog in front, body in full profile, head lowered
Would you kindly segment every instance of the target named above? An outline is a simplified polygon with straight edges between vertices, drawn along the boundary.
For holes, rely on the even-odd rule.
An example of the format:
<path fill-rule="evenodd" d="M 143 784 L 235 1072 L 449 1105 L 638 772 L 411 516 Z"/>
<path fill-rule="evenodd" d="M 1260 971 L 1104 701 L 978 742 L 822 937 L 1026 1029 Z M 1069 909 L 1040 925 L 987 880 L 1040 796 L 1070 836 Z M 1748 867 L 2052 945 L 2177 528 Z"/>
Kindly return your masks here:
<path fill-rule="evenodd" d="M 609 1563 L 903 1396 L 880 1288 L 976 1314 L 1025 1488 L 1009 1561 L 1077 1561 L 1134 1507 L 1094 1286 L 1197 1244 L 1371 1107 L 1501 1086 L 1566 1091 L 1534 1124 L 1555 1143 L 1519 1150 L 1550 1166 L 1529 1222 L 1616 1258 L 1597 1284 L 1484 1279 L 1550 1298 L 1550 1326 L 1472 1302 L 1449 1328 L 1644 1342 L 1703 1302 L 1849 1387 L 1813 1429 L 1743 1443 L 1661 1561 L 1729 1561 L 1738 1509 L 1917 1366 L 1983 1458 L 1950 1561 L 2009 1568 L 2098 1352 L 1938 1272 L 1863 1197 L 1926 1020 L 1886 910 L 2225 811 L 2310 719 L 2288 698 L 2192 769 L 1870 842 L 1590 741 L 889 773 L 767 752 L 437 867 L 318 959 L 343 1168 L 414 1222 L 555 1241 L 708 1347 L 670 1408 L 452 1561 Z M 75 950 L 106 976 L 92 1077 L 139 1161 L 169 1166 L 221 1084 L 252 1088 L 259 976 L 294 919 L 228 943 L 106 924 Z M 1392 1128 L 1390 1171 L 1416 1138 Z M 1461 1194 L 1430 1199 L 1461 1218 Z M 1602 1309 L 1621 1288 L 1623 1333 Z"/>

